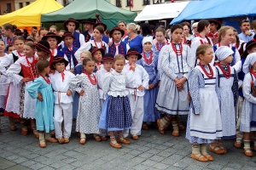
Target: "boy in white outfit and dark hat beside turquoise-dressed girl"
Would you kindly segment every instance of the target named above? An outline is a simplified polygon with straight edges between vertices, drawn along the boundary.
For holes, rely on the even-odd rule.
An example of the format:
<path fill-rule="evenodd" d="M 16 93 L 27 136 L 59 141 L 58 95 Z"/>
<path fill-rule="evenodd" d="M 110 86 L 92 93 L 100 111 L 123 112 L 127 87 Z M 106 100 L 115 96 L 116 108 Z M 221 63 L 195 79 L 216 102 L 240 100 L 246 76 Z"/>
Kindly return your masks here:
<path fill-rule="evenodd" d="M 55 56 L 51 70 L 55 70 L 54 74 L 49 74 L 51 86 L 54 90 L 55 106 L 54 106 L 54 124 L 55 137 L 60 144 L 69 143 L 69 137 L 72 129 L 73 117 L 73 91 L 69 87 L 69 81 L 75 77 L 72 72 L 65 71 L 68 61 L 62 56 Z M 63 132 L 61 124 L 63 122 Z"/>

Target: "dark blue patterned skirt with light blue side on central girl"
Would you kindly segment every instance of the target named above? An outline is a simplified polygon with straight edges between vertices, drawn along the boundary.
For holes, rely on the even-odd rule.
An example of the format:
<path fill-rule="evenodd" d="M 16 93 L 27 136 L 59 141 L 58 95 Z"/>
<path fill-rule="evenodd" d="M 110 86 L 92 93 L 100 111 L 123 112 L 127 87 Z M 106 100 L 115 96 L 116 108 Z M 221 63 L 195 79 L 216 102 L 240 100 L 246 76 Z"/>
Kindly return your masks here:
<path fill-rule="evenodd" d="M 131 108 L 128 97 L 107 96 L 102 107 L 99 128 L 119 131 L 130 129 L 131 126 Z"/>

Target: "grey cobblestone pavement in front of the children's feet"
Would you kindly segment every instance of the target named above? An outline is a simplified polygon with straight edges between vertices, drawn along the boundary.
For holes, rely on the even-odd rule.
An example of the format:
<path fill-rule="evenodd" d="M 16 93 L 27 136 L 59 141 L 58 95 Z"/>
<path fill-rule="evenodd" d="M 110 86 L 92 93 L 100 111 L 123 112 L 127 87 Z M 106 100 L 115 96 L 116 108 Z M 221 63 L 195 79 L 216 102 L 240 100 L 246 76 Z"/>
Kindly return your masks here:
<path fill-rule="evenodd" d="M 30 133 L 20 134 L 20 124 L 13 132 L 9 130 L 8 119 L 2 118 L 0 133 L 0 169 L 256 169 L 256 156 L 248 158 L 233 146 L 233 141 L 224 141 L 228 152 L 214 156 L 214 161 L 200 162 L 190 158 L 190 145 L 185 132 L 178 138 L 171 131 L 160 134 L 149 128 L 131 144 L 113 149 L 108 142 L 96 142 L 91 135 L 86 144 L 79 144 L 74 130 L 69 144 L 47 143 L 45 149 L 38 146 L 38 139 Z"/>

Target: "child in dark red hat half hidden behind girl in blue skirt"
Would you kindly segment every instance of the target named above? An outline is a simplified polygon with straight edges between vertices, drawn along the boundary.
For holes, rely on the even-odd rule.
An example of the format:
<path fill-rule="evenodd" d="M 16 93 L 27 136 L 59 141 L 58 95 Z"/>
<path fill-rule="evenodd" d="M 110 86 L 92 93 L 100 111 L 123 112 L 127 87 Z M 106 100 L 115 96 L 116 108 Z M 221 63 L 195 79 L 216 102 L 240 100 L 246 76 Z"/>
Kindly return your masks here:
<path fill-rule="evenodd" d="M 97 79 L 97 83 L 98 83 L 98 92 L 99 92 L 99 97 L 100 97 L 101 109 L 102 109 L 104 101 L 106 99 L 106 95 L 104 94 L 104 92 L 102 90 L 103 82 L 104 82 L 104 78 L 106 77 L 106 74 L 108 72 L 113 71 L 113 69 L 112 69 L 113 54 L 105 54 L 102 59 L 102 64 L 103 64 L 102 69 L 99 71 L 96 71 L 96 79 Z M 107 140 L 106 136 L 108 136 L 107 130 L 101 129 L 101 133 L 100 133 L 101 139 Z"/>

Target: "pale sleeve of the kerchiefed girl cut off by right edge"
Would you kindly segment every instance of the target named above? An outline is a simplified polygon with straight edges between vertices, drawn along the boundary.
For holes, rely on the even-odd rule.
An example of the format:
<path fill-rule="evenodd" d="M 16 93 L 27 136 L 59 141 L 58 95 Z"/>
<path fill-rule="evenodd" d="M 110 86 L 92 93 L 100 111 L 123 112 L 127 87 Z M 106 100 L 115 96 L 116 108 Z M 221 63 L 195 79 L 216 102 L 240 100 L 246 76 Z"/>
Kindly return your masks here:
<path fill-rule="evenodd" d="M 253 79 L 253 82 L 254 81 L 255 79 Z M 243 97 L 247 99 L 249 102 L 256 104 L 256 98 L 254 98 L 253 95 L 251 94 L 252 92 L 251 82 L 252 82 L 252 77 L 250 73 L 247 73 L 242 83 L 242 94 L 243 94 Z"/>

